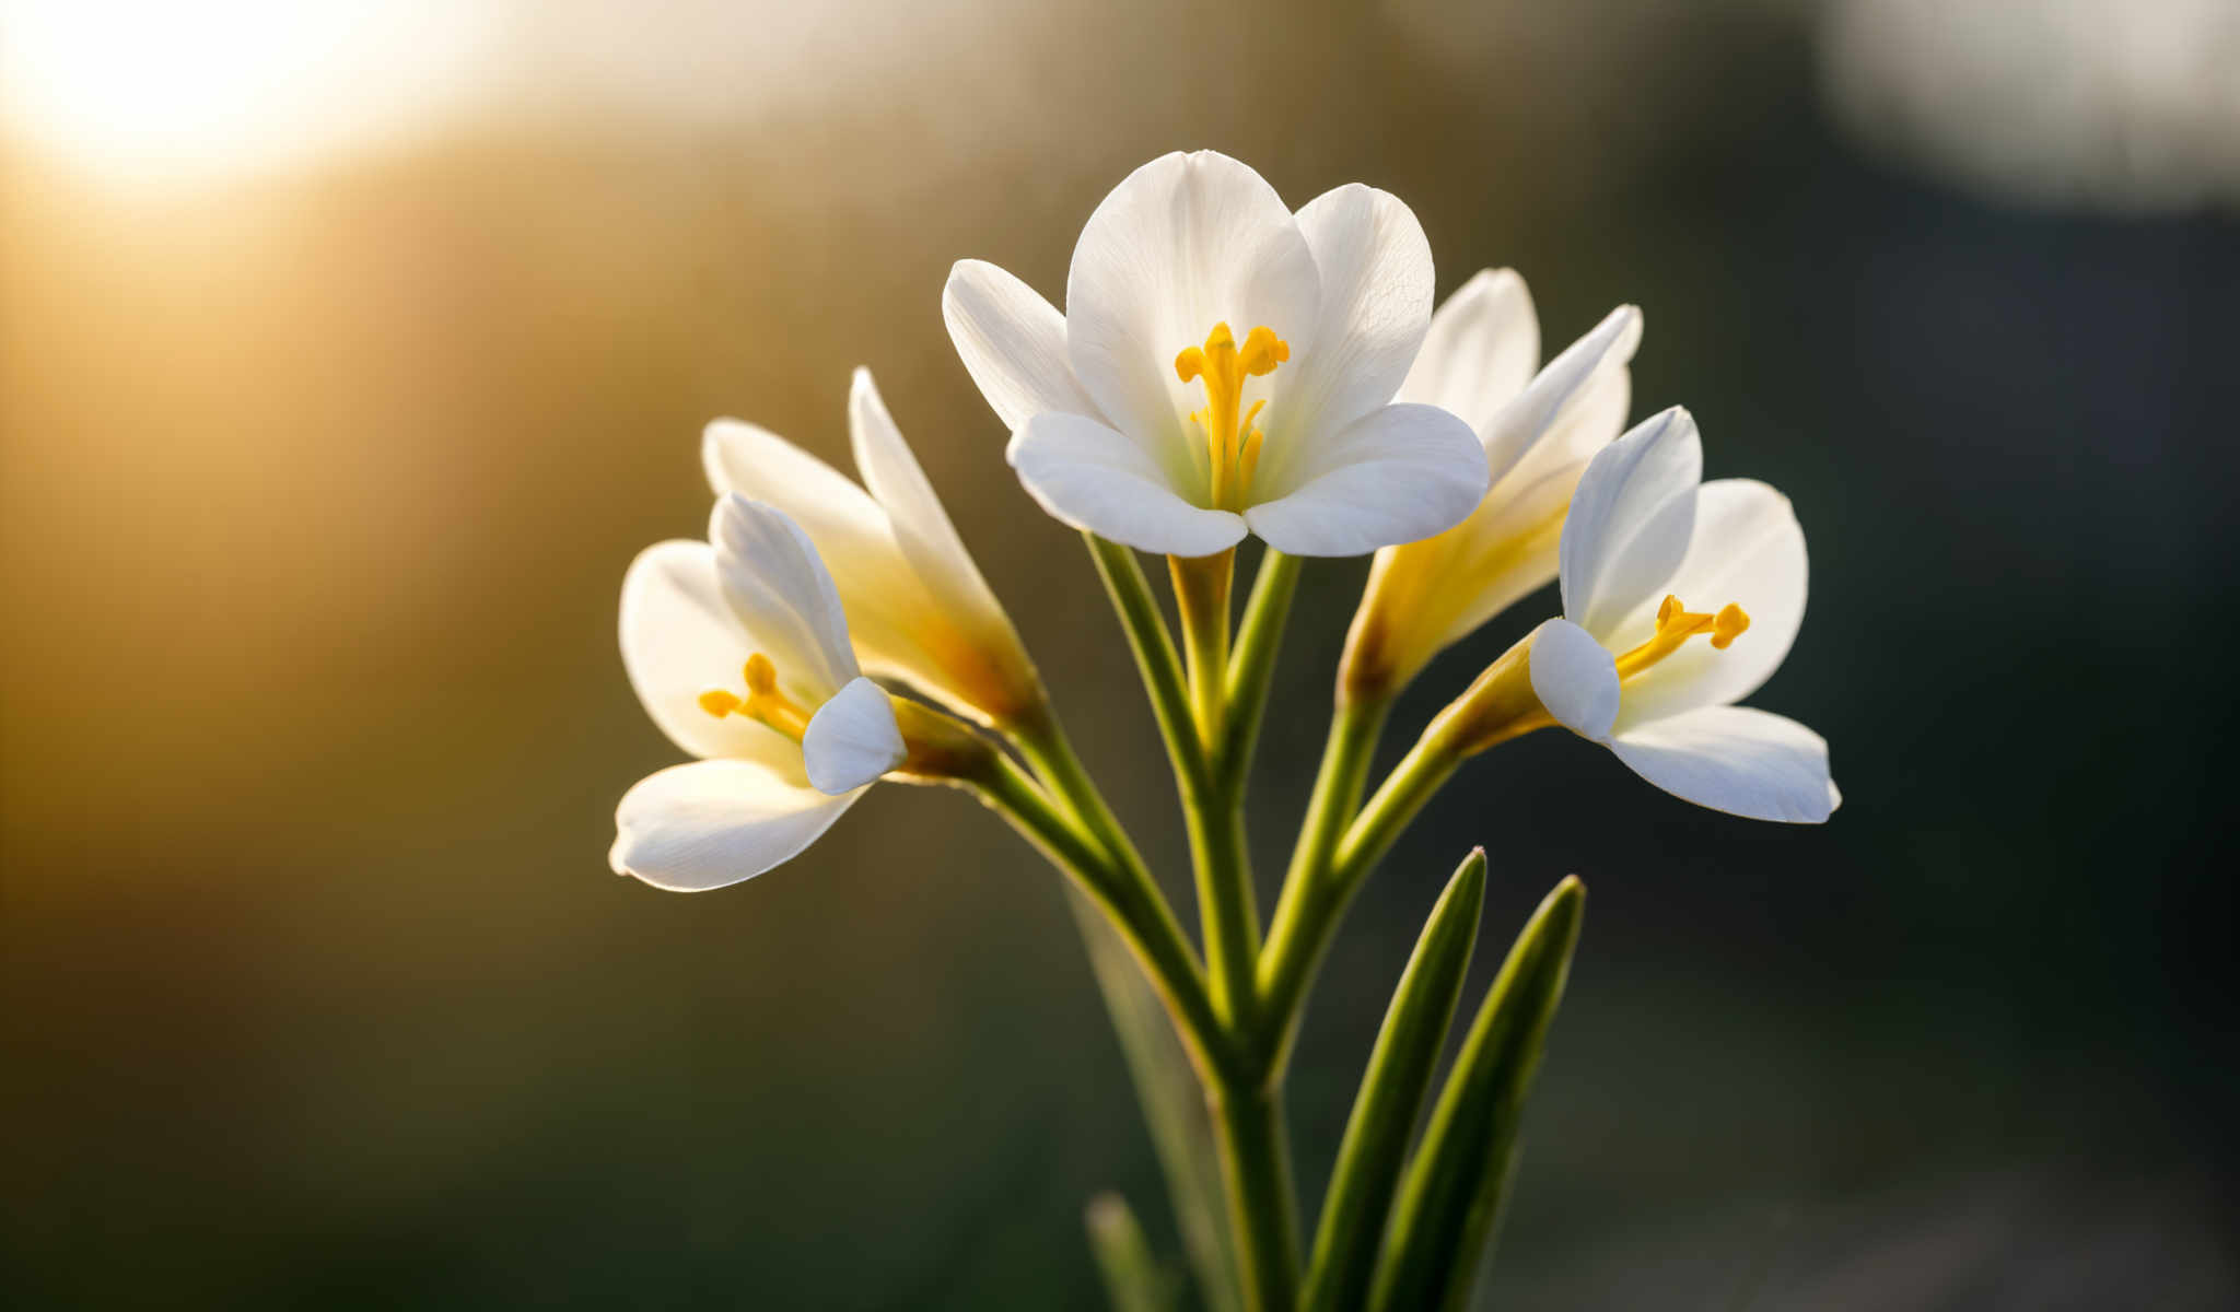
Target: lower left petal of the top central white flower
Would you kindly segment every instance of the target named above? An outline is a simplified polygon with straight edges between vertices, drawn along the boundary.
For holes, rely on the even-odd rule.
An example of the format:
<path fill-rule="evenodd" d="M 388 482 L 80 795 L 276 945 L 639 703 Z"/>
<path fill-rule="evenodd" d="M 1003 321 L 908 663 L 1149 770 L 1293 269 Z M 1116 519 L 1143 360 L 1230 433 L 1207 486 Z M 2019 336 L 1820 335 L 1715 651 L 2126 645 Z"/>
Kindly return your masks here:
<path fill-rule="evenodd" d="M 1095 419 L 1037 414 L 1006 454 L 1044 510 L 1138 551 L 1212 555 L 1245 535 L 1243 517 L 1174 495 L 1140 446 Z"/>

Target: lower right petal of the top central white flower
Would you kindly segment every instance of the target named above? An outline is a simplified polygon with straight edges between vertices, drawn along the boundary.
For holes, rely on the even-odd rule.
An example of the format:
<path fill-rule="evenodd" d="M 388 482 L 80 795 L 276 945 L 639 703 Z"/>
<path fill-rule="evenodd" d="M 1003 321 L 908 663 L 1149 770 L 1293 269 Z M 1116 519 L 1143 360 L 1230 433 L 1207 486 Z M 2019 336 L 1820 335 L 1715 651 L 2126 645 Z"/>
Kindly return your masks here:
<path fill-rule="evenodd" d="M 1254 493 L 1270 479 L 1257 477 Z M 1469 425 L 1434 405 L 1387 405 L 1319 439 L 1288 488 L 1245 510 L 1290 555 L 1362 555 L 1431 537 L 1485 497 L 1485 452 Z"/>

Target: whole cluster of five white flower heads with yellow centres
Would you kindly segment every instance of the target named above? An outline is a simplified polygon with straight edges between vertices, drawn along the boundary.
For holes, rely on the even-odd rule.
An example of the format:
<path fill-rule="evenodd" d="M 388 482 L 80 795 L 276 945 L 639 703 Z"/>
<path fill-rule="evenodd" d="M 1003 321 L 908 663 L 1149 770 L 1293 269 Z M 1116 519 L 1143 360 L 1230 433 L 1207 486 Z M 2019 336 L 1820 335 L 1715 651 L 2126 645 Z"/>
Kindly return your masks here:
<path fill-rule="evenodd" d="M 1803 620 L 1788 499 L 1700 484 L 1684 410 L 1620 437 L 1637 309 L 1541 365 L 1514 271 L 1478 273 L 1436 313 L 1431 291 L 1429 242 L 1398 197 L 1342 186 L 1295 213 L 1248 166 L 1196 152 L 1104 197 L 1064 311 L 965 260 L 943 318 L 1010 425 L 1019 481 L 1057 519 L 1172 557 L 1245 535 L 1290 555 L 1375 551 L 1342 696 L 1389 699 L 1559 578 L 1561 618 L 1510 663 L 1530 705 L 1494 681 L 1476 703 L 1499 703 L 1499 723 L 1449 719 L 1483 741 L 1559 723 L 1689 802 L 1826 819 L 1826 743 L 1732 705 Z M 865 786 L 909 775 L 903 719 L 930 730 L 916 748 L 932 766 L 959 755 L 952 728 L 874 678 L 997 734 L 1046 716 L 1010 618 L 862 369 L 847 414 L 862 486 L 762 428 L 710 423 L 708 542 L 632 564 L 623 660 L 701 761 L 629 790 L 616 871 L 712 889 L 784 862 Z"/>

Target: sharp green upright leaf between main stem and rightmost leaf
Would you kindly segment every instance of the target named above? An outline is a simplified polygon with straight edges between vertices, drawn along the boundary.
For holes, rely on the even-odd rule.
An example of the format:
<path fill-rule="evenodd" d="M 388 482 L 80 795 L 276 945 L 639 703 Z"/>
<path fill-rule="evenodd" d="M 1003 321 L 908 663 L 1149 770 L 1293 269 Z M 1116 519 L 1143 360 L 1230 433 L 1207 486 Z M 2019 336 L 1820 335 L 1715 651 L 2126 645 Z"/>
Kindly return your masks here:
<path fill-rule="evenodd" d="M 1431 1068 L 1447 1041 L 1447 1021 L 1463 996 L 1483 907 L 1485 849 L 1474 849 L 1431 907 L 1369 1055 L 1306 1267 L 1301 1305 L 1308 1312 L 1360 1308 L 1369 1294 L 1384 1213 L 1407 1162 L 1409 1131 L 1431 1086 Z"/>

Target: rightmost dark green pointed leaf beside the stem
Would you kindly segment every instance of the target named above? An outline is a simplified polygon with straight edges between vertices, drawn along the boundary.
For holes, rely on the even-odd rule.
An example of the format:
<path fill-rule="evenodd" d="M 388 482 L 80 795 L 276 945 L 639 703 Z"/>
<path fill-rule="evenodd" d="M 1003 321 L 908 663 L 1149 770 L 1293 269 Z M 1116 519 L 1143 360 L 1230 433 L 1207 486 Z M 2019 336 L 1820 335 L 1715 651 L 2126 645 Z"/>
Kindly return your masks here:
<path fill-rule="evenodd" d="M 1577 875 L 1566 878 L 1516 936 L 1485 994 L 1422 1146 L 1409 1162 L 1371 1308 L 1458 1310 L 1469 1301 L 1478 1258 L 1508 1193 L 1516 1124 L 1548 1023 L 1564 999 L 1584 911 L 1586 884 Z"/>

